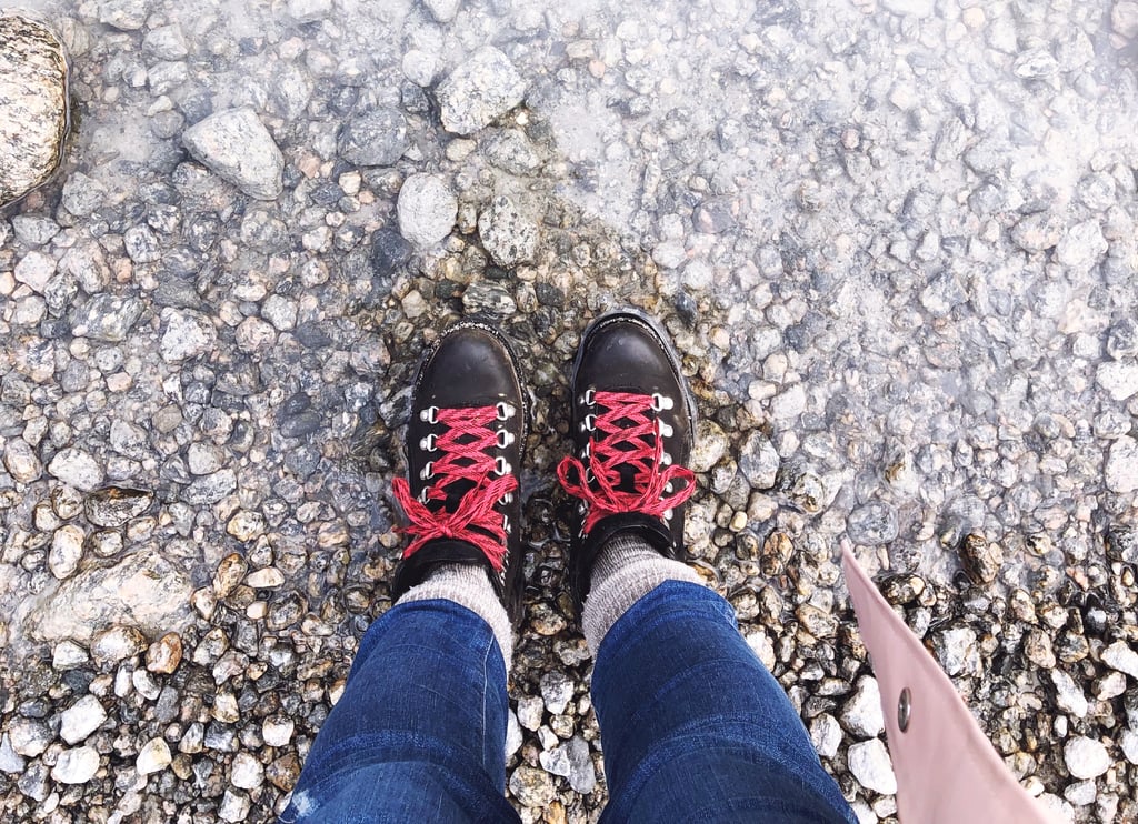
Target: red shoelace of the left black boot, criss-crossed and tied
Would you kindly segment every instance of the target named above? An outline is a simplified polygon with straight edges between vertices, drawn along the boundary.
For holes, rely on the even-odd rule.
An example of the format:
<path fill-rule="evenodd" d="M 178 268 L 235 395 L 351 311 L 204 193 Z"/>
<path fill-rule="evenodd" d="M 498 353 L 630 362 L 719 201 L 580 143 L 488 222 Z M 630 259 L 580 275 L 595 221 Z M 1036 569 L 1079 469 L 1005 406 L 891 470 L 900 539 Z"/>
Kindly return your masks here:
<path fill-rule="evenodd" d="M 493 427 L 498 419 L 497 408 L 438 409 L 435 417 L 443 431 L 434 439 L 438 457 L 430 461 L 434 483 L 428 488 L 427 503 L 411 494 L 411 484 L 405 478 L 391 481 L 395 499 L 409 521 L 402 532 L 414 538 L 403 550 L 403 557 L 410 557 L 428 541 L 450 538 L 475 544 L 494 571 L 502 572 L 506 533 L 494 505 L 518 489 L 518 478 L 512 473 L 498 475 L 498 465 L 488 455 L 498 446 L 497 430 Z M 454 511 L 447 511 L 445 506 L 434 509 L 429 506 L 431 501 L 445 501 L 447 489 L 462 481 L 475 485 L 463 493 Z"/>

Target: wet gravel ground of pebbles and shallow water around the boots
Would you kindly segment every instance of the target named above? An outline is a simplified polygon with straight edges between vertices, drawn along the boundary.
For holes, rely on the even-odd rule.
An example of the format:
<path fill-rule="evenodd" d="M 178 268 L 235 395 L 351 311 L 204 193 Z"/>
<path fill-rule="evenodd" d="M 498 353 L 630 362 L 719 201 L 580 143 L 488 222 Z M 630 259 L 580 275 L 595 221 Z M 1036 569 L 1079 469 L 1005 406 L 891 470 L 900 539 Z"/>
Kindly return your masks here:
<path fill-rule="evenodd" d="M 549 6 L 36 3 L 76 117 L 0 217 L 0 815 L 273 819 L 390 604 L 419 352 L 485 313 L 538 399 L 509 793 L 595 821 L 551 478 L 634 303 L 691 554 L 863 821 L 841 540 L 1032 793 L 1138 819 L 1138 3 Z"/>

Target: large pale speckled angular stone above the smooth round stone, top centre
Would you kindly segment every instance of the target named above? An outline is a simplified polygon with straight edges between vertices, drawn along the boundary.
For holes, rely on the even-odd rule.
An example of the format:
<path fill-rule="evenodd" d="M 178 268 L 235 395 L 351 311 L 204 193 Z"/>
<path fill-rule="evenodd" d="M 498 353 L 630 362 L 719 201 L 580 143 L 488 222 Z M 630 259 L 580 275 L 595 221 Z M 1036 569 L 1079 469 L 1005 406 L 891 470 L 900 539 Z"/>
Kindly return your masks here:
<path fill-rule="evenodd" d="M 439 84 L 443 126 L 455 134 L 473 134 L 518 106 L 527 85 L 510 58 L 484 45 Z"/>

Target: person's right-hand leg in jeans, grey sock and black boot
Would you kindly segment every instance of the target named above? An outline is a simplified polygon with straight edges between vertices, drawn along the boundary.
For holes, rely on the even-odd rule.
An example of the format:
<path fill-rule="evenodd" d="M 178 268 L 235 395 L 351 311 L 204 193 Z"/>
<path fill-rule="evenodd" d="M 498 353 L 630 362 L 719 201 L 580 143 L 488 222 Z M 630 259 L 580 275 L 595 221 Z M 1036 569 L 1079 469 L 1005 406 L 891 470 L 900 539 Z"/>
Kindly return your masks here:
<path fill-rule="evenodd" d="M 663 331 L 636 311 L 586 330 L 572 375 L 579 499 L 568 582 L 596 656 L 615 822 L 855 822 L 731 606 L 678 559 L 695 402 Z"/>

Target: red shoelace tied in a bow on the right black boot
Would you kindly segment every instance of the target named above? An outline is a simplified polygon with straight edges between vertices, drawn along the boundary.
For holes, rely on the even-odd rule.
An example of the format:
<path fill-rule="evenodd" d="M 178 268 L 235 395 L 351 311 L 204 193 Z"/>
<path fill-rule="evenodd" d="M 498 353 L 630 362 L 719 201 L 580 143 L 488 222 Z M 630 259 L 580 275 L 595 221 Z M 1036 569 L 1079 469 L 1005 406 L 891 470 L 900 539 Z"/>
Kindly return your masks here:
<path fill-rule="evenodd" d="M 564 491 L 588 505 L 585 534 L 601 518 L 620 513 L 663 517 L 667 510 L 692 496 L 695 473 L 675 464 L 663 466 L 663 438 L 659 418 L 651 414 L 651 396 L 595 392 L 594 405 L 605 411 L 595 416 L 599 435 L 589 446 L 588 469 L 574 456 L 562 458 L 558 465 L 558 478 Z M 621 483 L 620 467 L 626 465 L 635 472 L 634 491 L 617 489 Z M 667 486 L 674 481 L 684 481 L 684 486 L 669 494 Z"/>

